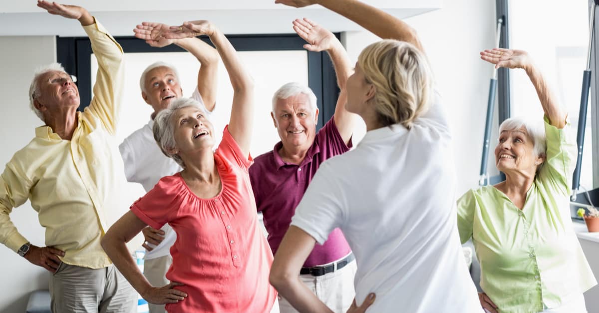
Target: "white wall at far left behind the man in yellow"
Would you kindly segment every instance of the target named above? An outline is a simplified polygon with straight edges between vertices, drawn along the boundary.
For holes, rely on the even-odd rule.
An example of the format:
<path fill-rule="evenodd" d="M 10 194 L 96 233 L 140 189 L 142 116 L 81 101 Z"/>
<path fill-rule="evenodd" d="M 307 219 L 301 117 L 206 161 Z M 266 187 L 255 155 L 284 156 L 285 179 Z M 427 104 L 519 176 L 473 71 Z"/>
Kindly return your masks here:
<path fill-rule="evenodd" d="M 34 136 L 43 123 L 29 110 L 28 92 L 36 67 L 56 61 L 54 37 L 0 37 L 0 168 Z M 34 245 L 44 246 L 44 228 L 29 201 L 13 210 L 11 219 Z M 47 289 L 49 272 L 0 246 L 0 312 L 25 312 L 30 291 Z"/>

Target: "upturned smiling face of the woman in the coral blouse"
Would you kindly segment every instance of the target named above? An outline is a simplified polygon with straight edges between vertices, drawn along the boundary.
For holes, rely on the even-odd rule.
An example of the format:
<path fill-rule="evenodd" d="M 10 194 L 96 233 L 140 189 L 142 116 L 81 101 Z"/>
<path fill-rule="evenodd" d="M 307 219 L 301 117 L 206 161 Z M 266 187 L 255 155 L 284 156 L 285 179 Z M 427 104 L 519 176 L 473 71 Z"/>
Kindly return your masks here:
<path fill-rule="evenodd" d="M 175 147 L 171 154 L 178 154 L 183 161 L 196 155 L 202 149 L 214 146 L 213 126 L 205 117 L 204 110 L 198 107 L 183 107 L 173 113 Z"/>

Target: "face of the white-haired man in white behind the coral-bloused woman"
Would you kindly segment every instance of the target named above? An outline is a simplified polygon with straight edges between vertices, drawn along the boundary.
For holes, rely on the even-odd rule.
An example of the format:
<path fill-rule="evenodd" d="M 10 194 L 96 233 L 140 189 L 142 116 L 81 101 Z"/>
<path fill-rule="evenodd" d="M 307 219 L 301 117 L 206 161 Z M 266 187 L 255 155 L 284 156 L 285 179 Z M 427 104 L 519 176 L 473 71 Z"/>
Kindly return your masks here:
<path fill-rule="evenodd" d="M 175 72 L 169 67 L 156 67 L 146 74 L 145 91 L 141 92 L 155 113 L 167 108 L 171 102 L 183 95 Z"/>

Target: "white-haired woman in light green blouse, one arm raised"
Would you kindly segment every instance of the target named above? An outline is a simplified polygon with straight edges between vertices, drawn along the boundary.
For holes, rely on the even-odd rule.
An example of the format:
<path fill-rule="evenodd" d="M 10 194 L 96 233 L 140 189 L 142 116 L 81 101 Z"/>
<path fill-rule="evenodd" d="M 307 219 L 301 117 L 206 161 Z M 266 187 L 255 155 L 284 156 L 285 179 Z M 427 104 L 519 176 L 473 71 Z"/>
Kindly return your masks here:
<path fill-rule="evenodd" d="M 571 225 L 577 151 L 566 113 L 526 52 L 480 55 L 496 68 L 525 70 L 545 113 L 544 125 L 503 122 L 495 164 L 506 180 L 458 200 L 459 236 L 473 239 L 480 261 L 480 303 L 487 312 L 586 312 L 582 294 L 597 281 Z"/>

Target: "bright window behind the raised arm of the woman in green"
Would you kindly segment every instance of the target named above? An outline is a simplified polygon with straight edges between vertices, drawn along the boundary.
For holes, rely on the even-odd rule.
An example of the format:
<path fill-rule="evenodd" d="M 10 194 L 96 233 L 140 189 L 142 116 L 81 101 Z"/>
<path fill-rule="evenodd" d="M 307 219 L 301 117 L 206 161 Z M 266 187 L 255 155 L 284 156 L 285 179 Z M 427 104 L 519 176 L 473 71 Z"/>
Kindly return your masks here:
<path fill-rule="evenodd" d="M 533 56 L 559 103 L 567 110 L 574 136 L 579 124 L 582 74 L 586 69 L 588 14 L 587 1 L 546 1 L 542 5 L 534 1 L 510 1 L 510 47 L 527 50 Z M 597 71 L 593 72 L 594 76 Z M 512 71 L 510 79 L 512 116 L 541 118 L 543 110 L 539 98 L 524 71 Z M 587 115 L 580 171 L 580 185 L 589 190 L 593 188 L 590 112 L 591 109 Z"/>

